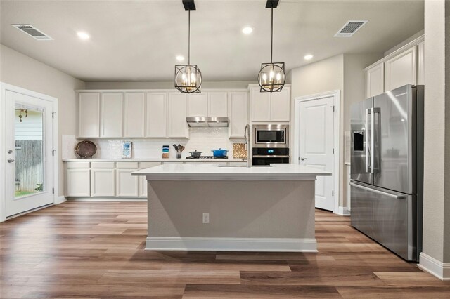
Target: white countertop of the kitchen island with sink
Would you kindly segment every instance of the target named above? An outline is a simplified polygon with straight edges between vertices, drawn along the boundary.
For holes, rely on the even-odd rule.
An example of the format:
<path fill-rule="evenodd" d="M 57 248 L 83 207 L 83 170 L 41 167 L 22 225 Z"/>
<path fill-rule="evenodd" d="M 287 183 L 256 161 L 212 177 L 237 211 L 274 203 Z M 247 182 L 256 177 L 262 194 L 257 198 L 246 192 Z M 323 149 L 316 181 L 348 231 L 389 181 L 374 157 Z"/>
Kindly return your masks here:
<path fill-rule="evenodd" d="M 146 175 L 147 180 L 316 180 L 316 176 L 331 175 L 328 171 L 298 164 L 273 164 L 250 168 L 219 165 L 162 164 L 134 171 L 131 175 Z"/>

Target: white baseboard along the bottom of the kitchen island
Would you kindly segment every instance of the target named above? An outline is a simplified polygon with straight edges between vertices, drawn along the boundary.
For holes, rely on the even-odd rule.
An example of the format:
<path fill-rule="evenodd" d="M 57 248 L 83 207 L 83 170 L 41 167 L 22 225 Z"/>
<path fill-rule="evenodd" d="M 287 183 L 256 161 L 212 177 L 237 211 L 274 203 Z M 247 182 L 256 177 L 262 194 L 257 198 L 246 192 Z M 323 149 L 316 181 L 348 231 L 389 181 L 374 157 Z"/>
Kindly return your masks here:
<path fill-rule="evenodd" d="M 148 251 L 317 252 L 316 239 L 147 237 Z"/>

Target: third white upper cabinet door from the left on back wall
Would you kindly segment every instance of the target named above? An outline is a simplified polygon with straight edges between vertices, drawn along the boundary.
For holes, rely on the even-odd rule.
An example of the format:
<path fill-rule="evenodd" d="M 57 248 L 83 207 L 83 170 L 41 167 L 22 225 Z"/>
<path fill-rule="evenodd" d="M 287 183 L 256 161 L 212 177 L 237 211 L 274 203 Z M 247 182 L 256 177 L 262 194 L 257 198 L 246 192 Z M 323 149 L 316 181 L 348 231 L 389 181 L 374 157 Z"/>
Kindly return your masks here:
<path fill-rule="evenodd" d="M 145 93 L 125 93 L 124 137 L 144 137 L 146 112 L 145 103 Z"/>

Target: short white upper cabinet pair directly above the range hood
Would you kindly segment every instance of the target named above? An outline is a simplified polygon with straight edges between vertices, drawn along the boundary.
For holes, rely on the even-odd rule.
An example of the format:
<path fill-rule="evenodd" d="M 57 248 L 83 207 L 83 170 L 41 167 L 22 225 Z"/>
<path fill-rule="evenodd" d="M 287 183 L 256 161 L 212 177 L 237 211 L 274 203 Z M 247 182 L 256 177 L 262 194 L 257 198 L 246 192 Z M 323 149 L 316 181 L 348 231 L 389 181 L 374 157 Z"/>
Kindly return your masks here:
<path fill-rule="evenodd" d="M 228 93 L 226 91 L 188 95 L 188 117 L 226 117 L 227 110 Z"/>

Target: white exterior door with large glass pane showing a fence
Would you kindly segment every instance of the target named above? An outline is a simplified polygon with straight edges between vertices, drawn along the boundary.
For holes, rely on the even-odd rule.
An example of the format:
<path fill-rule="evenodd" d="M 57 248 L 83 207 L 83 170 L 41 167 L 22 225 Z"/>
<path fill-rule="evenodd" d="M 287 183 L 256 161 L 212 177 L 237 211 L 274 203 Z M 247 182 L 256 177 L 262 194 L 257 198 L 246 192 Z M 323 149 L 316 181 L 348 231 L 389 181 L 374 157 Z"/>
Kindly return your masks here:
<path fill-rule="evenodd" d="M 53 204 L 53 102 L 6 91 L 6 217 Z"/>

